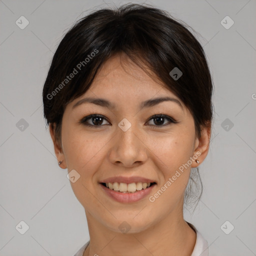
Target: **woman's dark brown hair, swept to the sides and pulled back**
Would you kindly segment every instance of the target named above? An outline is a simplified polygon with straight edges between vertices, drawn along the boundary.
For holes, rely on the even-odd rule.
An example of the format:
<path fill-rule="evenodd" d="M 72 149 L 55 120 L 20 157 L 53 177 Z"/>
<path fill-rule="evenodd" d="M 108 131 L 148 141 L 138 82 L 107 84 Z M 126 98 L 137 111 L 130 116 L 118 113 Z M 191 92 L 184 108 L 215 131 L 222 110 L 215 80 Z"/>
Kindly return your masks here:
<path fill-rule="evenodd" d="M 122 52 L 184 103 L 200 137 L 201 127 L 211 126 L 213 84 L 203 48 L 187 27 L 148 4 L 103 8 L 79 19 L 60 41 L 42 91 L 44 117 L 47 125 L 56 124 L 56 141 L 61 145 L 66 104 L 87 91 L 106 60 Z M 182 72 L 176 80 L 169 74 L 175 67 Z"/>

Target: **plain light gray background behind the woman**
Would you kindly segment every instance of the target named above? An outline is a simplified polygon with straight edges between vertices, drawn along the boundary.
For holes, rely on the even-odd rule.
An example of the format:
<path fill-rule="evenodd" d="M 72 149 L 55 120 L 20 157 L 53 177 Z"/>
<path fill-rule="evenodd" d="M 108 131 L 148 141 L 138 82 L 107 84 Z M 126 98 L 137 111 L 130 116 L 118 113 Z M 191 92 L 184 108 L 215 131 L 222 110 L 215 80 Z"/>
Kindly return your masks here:
<path fill-rule="evenodd" d="M 45 130 L 41 92 L 64 32 L 91 10 L 126 2 L 0 0 L 0 255 L 72 255 L 89 239 L 84 209 Z M 184 218 L 211 256 L 256 255 L 256 1 L 146 3 L 200 34 L 215 86 L 211 145 L 199 165 L 203 194 Z M 15 24 L 21 15 L 29 21 L 24 29 Z M 220 23 L 226 15 L 234 21 L 229 29 Z M 28 126 L 20 130 L 22 118 Z M 21 220 L 29 226 L 23 235 L 15 228 Z M 221 228 L 226 220 L 225 231 L 234 226 L 229 234 Z"/>

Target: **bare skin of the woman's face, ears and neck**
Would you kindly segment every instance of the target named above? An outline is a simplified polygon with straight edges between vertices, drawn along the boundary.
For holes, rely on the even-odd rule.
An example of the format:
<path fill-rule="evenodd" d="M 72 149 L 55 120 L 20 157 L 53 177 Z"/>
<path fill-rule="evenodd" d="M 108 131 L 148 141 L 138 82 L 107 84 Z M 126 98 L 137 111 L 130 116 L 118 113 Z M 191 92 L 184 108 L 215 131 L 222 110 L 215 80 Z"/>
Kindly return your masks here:
<path fill-rule="evenodd" d="M 116 108 L 84 103 L 72 106 L 84 97 L 105 98 Z M 80 178 L 72 183 L 73 192 L 85 209 L 90 243 L 83 255 L 190 255 L 196 234 L 183 219 L 183 197 L 191 165 L 154 202 L 148 196 L 134 203 L 120 203 L 100 188 L 100 180 L 111 176 L 142 176 L 155 180 L 150 195 L 172 177 L 178 167 L 200 152 L 200 163 L 206 157 L 210 128 L 195 135 L 189 110 L 175 102 L 163 101 L 139 108 L 141 101 L 157 96 L 177 98 L 155 82 L 126 55 L 110 58 L 96 75 L 89 90 L 70 102 L 64 111 L 61 142 L 50 135 L 57 160 L 68 172 L 75 169 Z M 178 99 L 178 98 L 177 98 Z M 79 121 L 92 113 L 103 115 L 95 127 Z M 151 119 L 154 114 L 168 115 L 178 123 Z M 118 123 L 126 118 L 131 127 L 123 131 Z M 93 125 L 93 118 L 87 121 Z M 100 123 L 101 126 L 96 126 Z M 118 226 L 126 221 L 130 230 L 122 233 Z M 152 253 L 152 254 L 151 254 Z"/>

